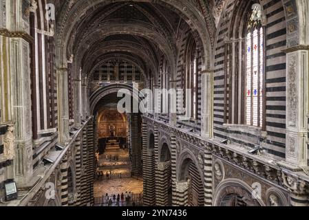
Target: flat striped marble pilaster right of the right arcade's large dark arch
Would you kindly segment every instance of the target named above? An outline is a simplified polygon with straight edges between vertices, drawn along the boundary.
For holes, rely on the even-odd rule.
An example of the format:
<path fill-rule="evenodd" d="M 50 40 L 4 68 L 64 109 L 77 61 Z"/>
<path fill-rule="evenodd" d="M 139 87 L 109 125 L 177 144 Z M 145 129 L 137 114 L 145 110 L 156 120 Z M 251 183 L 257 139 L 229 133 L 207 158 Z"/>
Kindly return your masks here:
<path fill-rule="evenodd" d="M 204 151 L 204 206 L 213 205 L 213 155 Z"/>

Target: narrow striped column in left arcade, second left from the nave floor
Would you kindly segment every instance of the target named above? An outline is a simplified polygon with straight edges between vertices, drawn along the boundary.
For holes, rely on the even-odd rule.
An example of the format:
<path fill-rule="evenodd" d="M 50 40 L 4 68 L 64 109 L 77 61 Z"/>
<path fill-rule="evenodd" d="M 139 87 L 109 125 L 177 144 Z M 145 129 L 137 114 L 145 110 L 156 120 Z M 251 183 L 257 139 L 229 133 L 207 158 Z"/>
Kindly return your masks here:
<path fill-rule="evenodd" d="M 76 201 L 75 206 L 81 206 L 81 136 L 75 141 L 75 168 L 76 168 Z"/>

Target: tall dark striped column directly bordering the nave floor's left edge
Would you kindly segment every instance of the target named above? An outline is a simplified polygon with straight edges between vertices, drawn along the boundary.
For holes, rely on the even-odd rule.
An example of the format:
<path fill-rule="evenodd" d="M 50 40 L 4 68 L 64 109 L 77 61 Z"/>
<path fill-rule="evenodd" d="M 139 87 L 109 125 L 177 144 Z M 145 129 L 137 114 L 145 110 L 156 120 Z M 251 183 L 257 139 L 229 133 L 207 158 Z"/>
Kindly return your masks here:
<path fill-rule="evenodd" d="M 87 126 L 87 203 L 94 204 L 94 175 L 95 175 L 95 155 L 94 155 L 94 124 L 91 120 Z"/>

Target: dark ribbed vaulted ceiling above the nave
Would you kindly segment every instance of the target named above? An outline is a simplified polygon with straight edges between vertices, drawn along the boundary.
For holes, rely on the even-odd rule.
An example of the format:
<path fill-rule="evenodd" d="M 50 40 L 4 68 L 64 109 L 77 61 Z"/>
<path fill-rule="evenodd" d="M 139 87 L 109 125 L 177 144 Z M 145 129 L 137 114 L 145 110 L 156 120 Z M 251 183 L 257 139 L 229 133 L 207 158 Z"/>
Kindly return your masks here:
<path fill-rule="evenodd" d="M 194 26 L 201 17 L 202 28 L 207 28 L 204 1 L 178 3 L 182 5 L 177 8 L 165 1 L 63 1 L 56 8 L 58 61 L 73 55 L 76 72 L 82 68 L 83 74 L 89 74 L 100 61 L 123 58 L 138 63 L 146 74 L 156 75 L 164 55 L 173 72 L 180 34 L 193 28 L 201 35 Z M 192 18 L 180 12 L 180 7 Z"/>

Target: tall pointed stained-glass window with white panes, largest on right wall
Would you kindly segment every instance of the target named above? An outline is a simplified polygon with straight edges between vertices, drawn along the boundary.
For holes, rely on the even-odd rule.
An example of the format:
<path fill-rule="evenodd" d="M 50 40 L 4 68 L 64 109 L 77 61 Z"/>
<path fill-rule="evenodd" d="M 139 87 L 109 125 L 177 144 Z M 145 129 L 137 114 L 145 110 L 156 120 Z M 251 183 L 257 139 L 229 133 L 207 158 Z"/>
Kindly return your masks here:
<path fill-rule="evenodd" d="M 246 32 L 245 122 L 263 126 L 264 29 L 261 8 L 253 7 Z"/>

